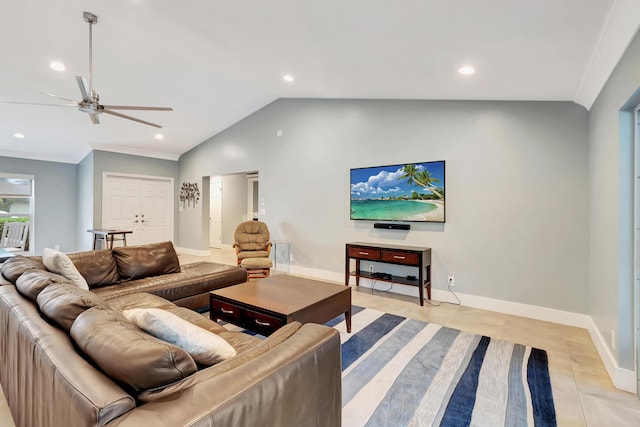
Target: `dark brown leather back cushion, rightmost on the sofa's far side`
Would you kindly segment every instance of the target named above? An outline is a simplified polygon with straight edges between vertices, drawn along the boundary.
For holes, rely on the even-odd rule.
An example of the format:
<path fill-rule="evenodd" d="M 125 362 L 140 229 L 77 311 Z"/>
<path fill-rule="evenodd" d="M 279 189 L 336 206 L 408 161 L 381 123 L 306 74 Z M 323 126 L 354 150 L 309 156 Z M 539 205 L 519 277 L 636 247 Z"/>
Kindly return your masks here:
<path fill-rule="evenodd" d="M 113 257 L 120 280 L 180 272 L 178 254 L 171 242 L 114 248 Z"/>

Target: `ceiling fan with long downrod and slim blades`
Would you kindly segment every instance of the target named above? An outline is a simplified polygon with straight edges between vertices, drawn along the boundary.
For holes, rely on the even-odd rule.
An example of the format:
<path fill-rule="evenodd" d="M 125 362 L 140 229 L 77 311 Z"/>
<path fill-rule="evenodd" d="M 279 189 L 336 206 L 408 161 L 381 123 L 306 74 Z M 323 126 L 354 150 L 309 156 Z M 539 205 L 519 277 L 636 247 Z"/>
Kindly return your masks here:
<path fill-rule="evenodd" d="M 100 104 L 100 96 L 93 89 L 93 34 L 92 28 L 94 24 L 98 23 L 98 17 L 90 12 L 84 12 L 82 14 L 84 20 L 89 23 L 89 83 L 82 76 L 76 76 L 78 87 L 80 88 L 80 94 L 82 95 L 82 101 L 76 102 L 72 99 L 63 98 L 51 93 L 43 93 L 44 95 L 58 98 L 63 101 L 70 102 L 71 104 L 34 104 L 31 102 L 11 102 L 5 101 L 9 104 L 29 104 L 29 105 L 47 105 L 56 107 L 78 107 L 80 111 L 89 114 L 91 122 L 95 125 L 100 124 L 98 116 L 102 113 L 111 114 L 112 116 L 122 117 L 123 119 L 133 120 L 134 122 L 143 123 L 145 125 L 161 128 L 162 126 L 148 122 L 146 120 L 138 119 L 126 114 L 119 113 L 114 110 L 139 110 L 139 111 L 173 111 L 171 107 L 136 107 L 131 105 L 103 105 Z"/>

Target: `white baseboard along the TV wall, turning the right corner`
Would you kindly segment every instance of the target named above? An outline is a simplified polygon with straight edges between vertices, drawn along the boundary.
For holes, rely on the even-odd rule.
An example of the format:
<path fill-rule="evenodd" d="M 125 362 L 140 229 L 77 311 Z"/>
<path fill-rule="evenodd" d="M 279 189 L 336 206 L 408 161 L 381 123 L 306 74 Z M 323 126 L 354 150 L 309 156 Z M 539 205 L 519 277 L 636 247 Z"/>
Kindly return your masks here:
<path fill-rule="evenodd" d="M 344 283 L 344 274 L 333 271 L 318 270 L 314 268 L 306 268 L 300 266 L 291 266 L 291 274 L 299 276 L 307 276 L 315 279 L 321 279 L 331 282 Z M 353 282 L 353 279 L 352 279 Z M 370 288 L 373 281 L 369 279 L 360 279 L 360 286 Z M 386 284 L 386 283 L 385 283 Z M 455 290 L 454 290 L 455 291 Z M 393 284 L 391 292 L 418 297 L 418 290 L 415 286 Z M 530 319 L 543 320 L 546 322 L 559 323 L 561 325 L 574 326 L 584 328 L 589 331 L 591 339 L 598 350 L 598 354 L 604 363 L 607 373 L 611 378 L 613 385 L 620 390 L 629 393 L 636 393 L 636 373 L 633 370 L 623 369 L 618 366 L 613 354 L 605 344 L 606 341 L 598 331 L 596 324 L 591 316 L 570 311 L 556 310 L 553 308 L 540 307 L 529 304 L 521 304 L 517 302 L 498 300 L 476 295 L 469 295 L 456 292 L 462 305 L 467 307 L 478 308 L 482 310 L 490 310 L 498 313 L 511 314 L 514 316 L 528 317 Z M 453 295 L 443 289 L 432 289 L 431 298 L 437 301 L 455 302 Z"/>

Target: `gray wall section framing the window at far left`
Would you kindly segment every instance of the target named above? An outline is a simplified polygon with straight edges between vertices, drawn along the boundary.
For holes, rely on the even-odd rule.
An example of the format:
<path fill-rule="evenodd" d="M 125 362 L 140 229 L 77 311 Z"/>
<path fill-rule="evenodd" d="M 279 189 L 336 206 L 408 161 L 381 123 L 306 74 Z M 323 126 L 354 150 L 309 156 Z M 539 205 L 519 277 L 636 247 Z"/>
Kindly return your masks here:
<path fill-rule="evenodd" d="M 63 251 L 76 247 L 77 167 L 68 163 L 0 157 L 0 172 L 35 176 L 35 244 L 31 249 L 41 254 L 44 248 L 60 245 Z"/>

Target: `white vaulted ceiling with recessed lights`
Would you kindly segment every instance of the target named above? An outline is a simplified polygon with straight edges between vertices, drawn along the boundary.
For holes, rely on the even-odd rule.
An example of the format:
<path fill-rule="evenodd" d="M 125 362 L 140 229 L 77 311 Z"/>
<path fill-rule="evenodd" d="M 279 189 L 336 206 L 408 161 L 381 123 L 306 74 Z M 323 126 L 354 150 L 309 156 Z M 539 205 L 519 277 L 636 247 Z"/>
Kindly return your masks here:
<path fill-rule="evenodd" d="M 640 24 L 638 0 L 20 0 L 0 4 L 0 101 L 80 100 L 93 27 L 104 104 L 0 102 L 0 155 L 77 163 L 91 148 L 177 159 L 278 98 L 575 101 L 589 108 Z M 52 60 L 67 66 L 59 73 Z M 474 76 L 456 70 L 476 67 Z M 287 83 L 282 76 L 295 76 Z M 16 132 L 25 139 L 13 137 Z"/>

